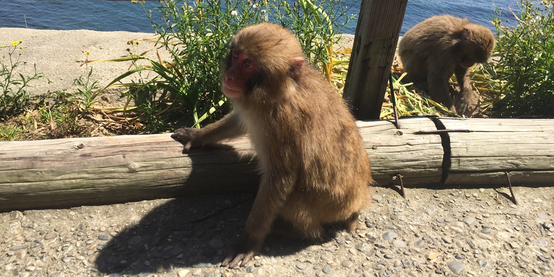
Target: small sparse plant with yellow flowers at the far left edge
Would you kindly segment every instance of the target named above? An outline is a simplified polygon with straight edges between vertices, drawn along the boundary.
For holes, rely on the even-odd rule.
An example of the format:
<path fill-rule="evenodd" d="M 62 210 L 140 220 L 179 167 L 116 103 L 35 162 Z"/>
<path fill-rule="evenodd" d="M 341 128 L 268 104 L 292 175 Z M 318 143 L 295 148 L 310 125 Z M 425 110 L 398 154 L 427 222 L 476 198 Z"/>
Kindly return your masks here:
<path fill-rule="evenodd" d="M 18 48 L 23 49 L 19 46 L 21 43 L 23 41 L 19 40 L 12 42 L 11 45 L 0 45 L 0 48 L 8 48 L 8 63 L 4 62 L 5 54 L 2 61 L 0 61 L 0 120 L 7 120 L 8 117 L 24 111 L 25 106 L 30 101 L 30 96 L 25 91 L 25 87 L 29 85 L 29 81 L 43 77 L 41 73 L 37 73 L 36 66 L 32 76 L 19 74 L 16 77 L 15 69 L 19 65 L 19 57 L 23 52 L 19 51 L 17 58 L 13 56 Z"/>

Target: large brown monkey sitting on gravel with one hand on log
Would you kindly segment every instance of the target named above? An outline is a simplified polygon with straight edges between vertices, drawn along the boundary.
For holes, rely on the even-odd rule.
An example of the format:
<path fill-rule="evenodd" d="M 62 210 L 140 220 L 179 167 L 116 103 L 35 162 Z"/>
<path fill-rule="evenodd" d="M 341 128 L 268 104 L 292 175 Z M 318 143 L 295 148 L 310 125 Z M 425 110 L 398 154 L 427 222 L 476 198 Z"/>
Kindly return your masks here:
<path fill-rule="evenodd" d="M 312 239 L 325 235 L 327 223 L 355 232 L 358 212 L 371 199 L 370 161 L 350 111 L 307 63 L 294 35 L 271 23 L 244 28 L 232 39 L 222 79 L 234 111 L 172 135 L 187 152 L 248 134 L 258 156 L 258 194 L 222 265 L 244 266 L 277 222 Z"/>

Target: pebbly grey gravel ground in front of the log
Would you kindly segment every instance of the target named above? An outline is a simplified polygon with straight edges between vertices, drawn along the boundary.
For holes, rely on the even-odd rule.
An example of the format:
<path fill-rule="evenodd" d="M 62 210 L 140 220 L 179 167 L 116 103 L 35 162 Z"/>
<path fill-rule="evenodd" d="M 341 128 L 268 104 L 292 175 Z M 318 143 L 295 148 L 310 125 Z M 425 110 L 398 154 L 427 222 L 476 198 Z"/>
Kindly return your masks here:
<path fill-rule="evenodd" d="M 0 214 L 2 276 L 554 276 L 552 187 L 373 187 L 356 235 L 269 237 L 243 268 L 220 267 L 253 194 Z"/>

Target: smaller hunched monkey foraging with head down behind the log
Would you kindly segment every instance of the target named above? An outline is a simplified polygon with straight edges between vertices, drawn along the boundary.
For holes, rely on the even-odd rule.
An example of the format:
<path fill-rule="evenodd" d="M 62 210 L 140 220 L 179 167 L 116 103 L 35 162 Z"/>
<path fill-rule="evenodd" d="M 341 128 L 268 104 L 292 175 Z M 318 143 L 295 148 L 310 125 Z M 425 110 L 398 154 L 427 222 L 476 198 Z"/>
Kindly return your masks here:
<path fill-rule="evenodd" d="M 450 111 L 463 115 L 471 105 L 473 89 L 469 68 L 484 63 L 494 49 L 493 32 L 467 18 L 434 16 L 408 30 L 398 45 L 398 55 L 409 81 L 427 80 L 429 95 Z M 455 73 L 459 93 L 449 93 Z"/>

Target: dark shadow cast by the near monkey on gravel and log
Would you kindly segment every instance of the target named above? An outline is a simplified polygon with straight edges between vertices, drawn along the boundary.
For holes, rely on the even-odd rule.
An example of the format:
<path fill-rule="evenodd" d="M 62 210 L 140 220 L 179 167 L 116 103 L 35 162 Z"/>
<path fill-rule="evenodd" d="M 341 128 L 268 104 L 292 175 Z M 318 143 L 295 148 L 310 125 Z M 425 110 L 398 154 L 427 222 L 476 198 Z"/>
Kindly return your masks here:
<path fill-rule="evenodd" d="M 239 153 L 230 150 L 230 147 L 208 151 L 216 151 L 213 154 L 218 157 L 222 153 L 217 151 L 224 151 L 221 166 L 210 165 L 211 168 L 206 170 L 202 157 L 191 151 L 192 171 L 183 187 L 192 183 L 190 180 L 198 183 L 197 180 L 213 179 L 214 174 L 222 172 L 225 178 L 231 180 L 248 178 L 243 171 L 229 168 L 229 165 L 245 162 Z M 209 183 L 205 185 L 211 192 L 223 191 L 211 187 Z M 208 189 L 204 189 L 206 191 Z M 116 237 L 110 237 L 105 244 L 100 244 L 96 268 L 104 274 L 139 274 L 168 273 L 172 268 L 179 267 L 218 265 L 242 232 L 254 197 L 255 192 L 251 191 L 184 196 L 167 201 L 151 209 L 139 223 L 121 230 Z M 312 244 L 314 242 L 309 240 L 271 234 L 265 240 L 260 254 L 268 257 L 289 255 Z M 253 264 L 250 261 L 249 265 Z"/>

